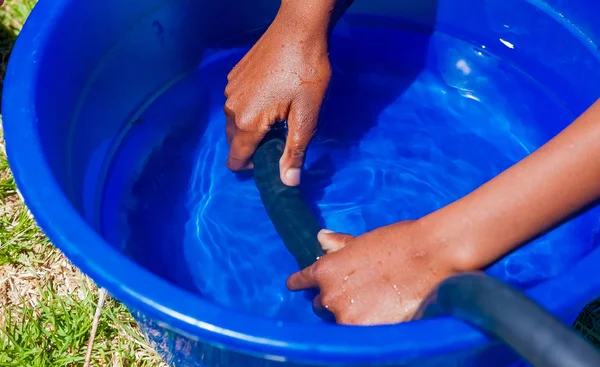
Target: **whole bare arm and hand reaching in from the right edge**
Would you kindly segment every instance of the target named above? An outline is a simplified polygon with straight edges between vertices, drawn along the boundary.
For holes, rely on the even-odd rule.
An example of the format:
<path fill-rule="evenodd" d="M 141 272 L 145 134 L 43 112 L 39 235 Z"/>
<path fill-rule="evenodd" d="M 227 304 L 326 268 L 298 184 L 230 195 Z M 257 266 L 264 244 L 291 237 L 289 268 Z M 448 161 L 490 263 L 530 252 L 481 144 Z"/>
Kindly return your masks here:
<path fill-rule="evenodd" d="M 600 198 L 600 100 L 539 150 L 464 198 L 362 236 L 320 233 L 328 254 L 288 279 L 318 287 L 340 323 L 412 317 L 440 281 L 491 264 Z"/>

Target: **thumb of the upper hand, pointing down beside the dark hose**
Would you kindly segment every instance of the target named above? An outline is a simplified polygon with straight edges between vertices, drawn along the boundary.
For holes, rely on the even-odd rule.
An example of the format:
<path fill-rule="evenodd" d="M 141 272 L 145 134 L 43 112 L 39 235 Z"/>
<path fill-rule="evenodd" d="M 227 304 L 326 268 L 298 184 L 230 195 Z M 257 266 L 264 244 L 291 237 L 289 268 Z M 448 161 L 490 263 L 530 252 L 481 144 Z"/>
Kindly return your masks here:
<path fill-rule="evenodd" d="M 279 161 L 281 181 L 288 186 L 300 184 L 304 155 L 317 128 L 320 104 L 294 102 L 288 115 L 288 137 Z"/>

